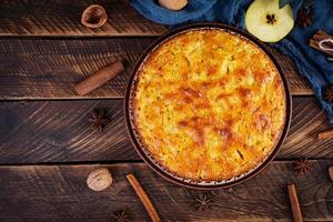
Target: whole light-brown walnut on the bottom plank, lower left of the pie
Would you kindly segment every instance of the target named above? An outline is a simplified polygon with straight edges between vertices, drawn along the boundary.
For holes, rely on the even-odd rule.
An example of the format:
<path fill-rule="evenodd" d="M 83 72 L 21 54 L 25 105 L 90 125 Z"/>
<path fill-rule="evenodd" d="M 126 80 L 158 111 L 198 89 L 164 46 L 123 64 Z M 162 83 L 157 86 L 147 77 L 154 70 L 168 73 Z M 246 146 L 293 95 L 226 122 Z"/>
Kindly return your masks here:
<path fill-rule="evenodd" d="M 92 171 L 88 179 L 87 184 L 93 191 L 103 191 L 112 183 L 112 175 L 107 168 L 99 168 Z"/>

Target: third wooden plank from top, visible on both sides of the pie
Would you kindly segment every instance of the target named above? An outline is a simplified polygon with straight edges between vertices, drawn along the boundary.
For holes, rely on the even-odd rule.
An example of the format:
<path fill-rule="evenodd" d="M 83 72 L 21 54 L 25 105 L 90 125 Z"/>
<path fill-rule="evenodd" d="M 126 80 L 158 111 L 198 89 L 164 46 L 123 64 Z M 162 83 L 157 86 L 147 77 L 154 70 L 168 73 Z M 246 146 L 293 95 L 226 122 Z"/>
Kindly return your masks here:
<path fill-rule="evenodd" d="M 314 98 L 293 99 L 293 119 L 279 159 L 333 158 L 333 140 L 317 140 L 329 121 Z M 89 127 L 90 111 L 108 110 L 101 133 Z M 140 160 L 124 128 L 121 100 L 0 103 L 0 164 Z"/>

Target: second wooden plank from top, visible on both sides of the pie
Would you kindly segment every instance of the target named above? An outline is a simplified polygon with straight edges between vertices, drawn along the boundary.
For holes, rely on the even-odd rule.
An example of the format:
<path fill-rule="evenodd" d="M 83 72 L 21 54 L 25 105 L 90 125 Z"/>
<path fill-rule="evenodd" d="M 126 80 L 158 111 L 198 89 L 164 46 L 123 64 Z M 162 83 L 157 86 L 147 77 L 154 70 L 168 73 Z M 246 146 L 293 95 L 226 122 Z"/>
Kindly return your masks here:
<path fill-rule="evenodd" d="M 128 60 L 128 69 L 84 98 L 122 98 L 131 67 L 153 42 L 143 39 L 93 40 L 0 40 L 0 99 L 81 99 L 75 91 L 80 82 L 115 60 Z M 286 57 L 279 54 L 293 94 L 312 90 Z"/>

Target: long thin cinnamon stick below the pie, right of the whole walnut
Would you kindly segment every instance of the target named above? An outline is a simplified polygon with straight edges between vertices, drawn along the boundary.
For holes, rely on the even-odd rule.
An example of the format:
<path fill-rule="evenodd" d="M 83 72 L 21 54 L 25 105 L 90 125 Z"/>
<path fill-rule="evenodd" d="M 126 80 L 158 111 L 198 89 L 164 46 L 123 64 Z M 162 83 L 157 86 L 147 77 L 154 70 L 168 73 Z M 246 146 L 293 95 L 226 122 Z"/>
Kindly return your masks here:
<path fill-rule="evenodd" d="M 153 204 L 151 203 L 150 199 L 148 198 L 147 193 L 144 192 L 144 190 L 140 185 L 137 178 L 133 174 L 129 174 L 129 175 L 127 175 L 127 179 L 131 183 L 131 185 L 133 186 L 135 193 L 139 195 L 139 198 L 140 198 L 141 202 L 143 203 L 147 212 L 149 213 L 151 220 L 153 222 L 161 221 L 157 210 L 154 209 Z"/>

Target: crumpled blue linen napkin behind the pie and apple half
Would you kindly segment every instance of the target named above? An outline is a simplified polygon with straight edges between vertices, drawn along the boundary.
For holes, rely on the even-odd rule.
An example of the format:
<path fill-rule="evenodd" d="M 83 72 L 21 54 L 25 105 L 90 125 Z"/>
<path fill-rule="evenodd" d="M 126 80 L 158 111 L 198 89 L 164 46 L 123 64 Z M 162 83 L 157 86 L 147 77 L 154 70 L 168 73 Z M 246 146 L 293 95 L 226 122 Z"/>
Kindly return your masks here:
<path fill-rule="evenodd" d="M 143 17 L 171 28 L 196 21 L 220 21 L 245 29 L 244 14 L 251 2 L 252 0 L 190 0 L 183 10 L 171 11 L 160 7 L 154 0 L 131 0 L 131 4 Z M 292 2 L 295 18 L 301 4 L 302 0 Z M 272 46 L 287 54 L 299 72 L 309 80 L 333 125 L 333 104 L 327 103 L 322 94 L 323 89 L 333 83 L 333 63 L 327 61 L 322 52 L 309 47 L 309 40 L 319 29 L 333 34 L 333 1 L 314 1 L 311 9 L 311 27 L 300 28 L 295 23 L 286 38 Z"/>

